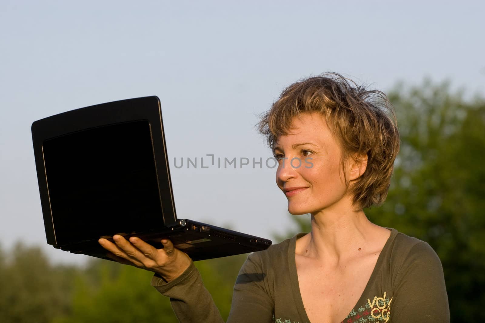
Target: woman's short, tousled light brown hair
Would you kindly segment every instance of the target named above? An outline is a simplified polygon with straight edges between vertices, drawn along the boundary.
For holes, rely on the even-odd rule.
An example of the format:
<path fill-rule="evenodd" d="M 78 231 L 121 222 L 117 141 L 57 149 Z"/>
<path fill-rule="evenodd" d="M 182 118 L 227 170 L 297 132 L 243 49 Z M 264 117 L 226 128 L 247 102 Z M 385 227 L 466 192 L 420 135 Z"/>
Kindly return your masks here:
<path fill-rule="evenodd" d="M 288 134 L 293 117 L 312 112 L 321 113 L 337 138 L 342 167 L 348 158 L 367 155 L 365 172 L 350 186 L 354 206 L 361 210 L 384 203 L 399 152 L 396 116 L 386 94 L 338 73 L 308 77 L 283 90 L 261 115 L 259 132 L 273 149 L 277 138 Z"/>

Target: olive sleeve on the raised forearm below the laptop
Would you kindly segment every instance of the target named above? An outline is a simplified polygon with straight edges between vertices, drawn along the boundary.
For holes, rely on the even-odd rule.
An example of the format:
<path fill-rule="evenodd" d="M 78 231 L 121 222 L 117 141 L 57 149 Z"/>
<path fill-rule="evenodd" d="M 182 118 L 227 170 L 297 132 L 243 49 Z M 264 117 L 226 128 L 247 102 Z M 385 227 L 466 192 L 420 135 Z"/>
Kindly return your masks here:
<path fill-rule="evenodd" d="M 182 275 L 168 283 L 155 275 L 151 285 L 162 295 L 170 297 L 170 304 L 181 323 L 224 322 L 194 262 Z"/>

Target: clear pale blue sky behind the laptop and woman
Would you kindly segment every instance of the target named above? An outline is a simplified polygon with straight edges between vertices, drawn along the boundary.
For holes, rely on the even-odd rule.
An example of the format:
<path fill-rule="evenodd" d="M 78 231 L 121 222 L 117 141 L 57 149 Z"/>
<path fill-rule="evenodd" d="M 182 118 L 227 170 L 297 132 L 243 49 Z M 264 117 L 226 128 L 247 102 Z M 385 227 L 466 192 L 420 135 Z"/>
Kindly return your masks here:
<path fill-rule="evenodd" d="M 172 161 L 264 160 L 256 115 L 301 77 L 331 70 L 388 91 L 428 76 L 483 94 L 484 12 L 484 1 L 3 0 L 0 245 L 86 259 L 46 243 L 35 120 L 158 95 Z M 275 169 L 184 166 L 171 169 L 179 217 L 264 237 L 291 227 Z"/>

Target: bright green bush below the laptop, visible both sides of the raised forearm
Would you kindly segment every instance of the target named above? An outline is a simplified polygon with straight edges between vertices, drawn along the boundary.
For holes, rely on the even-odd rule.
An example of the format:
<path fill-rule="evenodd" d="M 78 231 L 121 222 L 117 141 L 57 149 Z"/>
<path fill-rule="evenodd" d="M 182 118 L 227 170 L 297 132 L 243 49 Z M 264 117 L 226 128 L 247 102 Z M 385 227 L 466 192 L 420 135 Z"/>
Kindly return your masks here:
<path fill-rule="evenodd" d="M 245 255 L 206 261 L 195 266 L 224 319 Z M 178 322 L 168 297 L 150 285 L 153 273 L 111 261 L 94 260 L 74 282 L 72 310 L 53 323 Z"/>

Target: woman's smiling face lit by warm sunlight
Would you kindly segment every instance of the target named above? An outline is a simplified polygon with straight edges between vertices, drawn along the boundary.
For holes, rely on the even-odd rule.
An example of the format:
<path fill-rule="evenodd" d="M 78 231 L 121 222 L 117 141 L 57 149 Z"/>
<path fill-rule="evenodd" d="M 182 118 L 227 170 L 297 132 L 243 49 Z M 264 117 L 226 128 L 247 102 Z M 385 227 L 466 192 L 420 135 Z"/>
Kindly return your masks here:
<path fill-rule="evenodd" d="M 293 118 L 292 126 L 274 149 L 279 163 L 276 184 L 288 198 L 288 211 L 315 214 L 348 206 L 341 149 L 325 119 L 319 113 L 304 113 Z"/>

